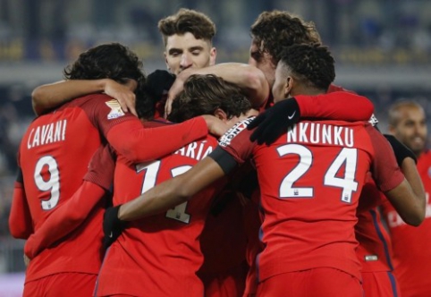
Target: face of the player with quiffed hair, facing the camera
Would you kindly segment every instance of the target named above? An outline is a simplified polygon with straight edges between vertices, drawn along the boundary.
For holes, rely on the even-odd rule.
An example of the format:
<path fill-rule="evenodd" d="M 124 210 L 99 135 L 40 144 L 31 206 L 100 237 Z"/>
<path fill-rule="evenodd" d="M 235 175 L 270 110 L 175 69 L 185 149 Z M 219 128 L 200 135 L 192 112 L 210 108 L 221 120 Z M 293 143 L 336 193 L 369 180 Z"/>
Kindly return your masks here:
<path fill-rule="evenodd" d="M 166 38 L 165 62 L 177 75 L 187 68 L 203 68 L 216 63 L 216 48 L 205 39 L 197 39 L 190 32 Z"/>

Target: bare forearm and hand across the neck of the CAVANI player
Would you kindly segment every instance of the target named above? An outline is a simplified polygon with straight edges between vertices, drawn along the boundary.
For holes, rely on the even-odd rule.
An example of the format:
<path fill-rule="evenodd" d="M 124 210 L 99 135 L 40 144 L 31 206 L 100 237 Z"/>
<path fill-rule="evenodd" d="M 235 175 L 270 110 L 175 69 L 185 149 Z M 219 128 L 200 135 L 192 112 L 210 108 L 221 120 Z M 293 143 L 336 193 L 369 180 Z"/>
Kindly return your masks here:
<path fill-rule="evenodd" d="M 135 110 L 136 97 L 133 93 L 136 87 L 136 81 L 132 80 L 127 81 L 125 84 L 109 79 L 57 81 L 34 89 L 31 93 L 31 103 L 36 115 L 42 115 L 55 106 L 60 106 L 73 98 L 105 92 L 106 95 L 115 98 L 120 103 L 124 112 L 130 110 L 131 114 L 137 115 Z"/>

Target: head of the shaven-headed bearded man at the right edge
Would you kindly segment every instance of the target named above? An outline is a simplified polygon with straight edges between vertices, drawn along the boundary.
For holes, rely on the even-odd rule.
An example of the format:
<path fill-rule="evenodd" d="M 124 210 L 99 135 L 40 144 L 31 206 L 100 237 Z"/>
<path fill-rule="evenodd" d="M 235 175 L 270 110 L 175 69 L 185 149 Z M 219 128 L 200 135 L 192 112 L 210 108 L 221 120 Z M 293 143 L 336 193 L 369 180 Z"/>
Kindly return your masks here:
<path fill-rule="evenodd" d="M 395 116 L 396 122 L 389 126 L 389 132 L 419 156 L 427 141 L 424 110 L 418 106 L 401 106 Z"/>

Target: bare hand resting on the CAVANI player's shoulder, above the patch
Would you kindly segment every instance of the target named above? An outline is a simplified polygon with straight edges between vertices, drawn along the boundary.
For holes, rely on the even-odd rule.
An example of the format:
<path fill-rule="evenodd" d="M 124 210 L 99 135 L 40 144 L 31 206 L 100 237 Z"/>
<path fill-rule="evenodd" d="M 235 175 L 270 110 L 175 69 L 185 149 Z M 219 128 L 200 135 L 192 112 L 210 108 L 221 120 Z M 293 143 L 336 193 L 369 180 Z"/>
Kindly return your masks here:
<path fill-rule="evenodd" d="M 126 79 L 124 84 L 113 80 L 106 80 L 104 92 L 106 95 L 118 101 L 124 113 L 128 111 L 132 115 L 138 116 L 135 109 L 136 95 L 134 90 L 138 87 L 138 82 Z"/>

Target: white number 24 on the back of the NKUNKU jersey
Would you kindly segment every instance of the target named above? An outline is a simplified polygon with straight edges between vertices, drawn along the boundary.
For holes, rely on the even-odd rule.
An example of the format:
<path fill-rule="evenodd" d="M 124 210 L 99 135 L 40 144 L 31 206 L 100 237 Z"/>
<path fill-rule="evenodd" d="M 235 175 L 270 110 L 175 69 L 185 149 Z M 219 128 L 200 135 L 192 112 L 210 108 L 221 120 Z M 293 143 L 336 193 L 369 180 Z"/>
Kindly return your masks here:
<path fill-rule="evenodd" d="M 280 198 L 312 198 L 314 189 L 312 187 L 293 187 L 300 177 L 305 174 L 311 167 L 313 154 L 308 148 L 299 144 L 287 144 L 277 148 L 280 157 L 295 154 L 300 157 L 298 165 L 283 178 L 280 185 Z M 333 163 L 326 170 L 324 185 L 334 186 L 342 189 L 341 200 L 351 203 L 351 196 L 354 191 L 358 190 L 358 182 L 355 181 L 356 165 L 358 159 L 358 150 L 356 148 L 342 148 Z M 344 176 L 337 177 L 336 174 L 345 166 Z"/>

